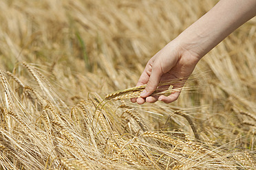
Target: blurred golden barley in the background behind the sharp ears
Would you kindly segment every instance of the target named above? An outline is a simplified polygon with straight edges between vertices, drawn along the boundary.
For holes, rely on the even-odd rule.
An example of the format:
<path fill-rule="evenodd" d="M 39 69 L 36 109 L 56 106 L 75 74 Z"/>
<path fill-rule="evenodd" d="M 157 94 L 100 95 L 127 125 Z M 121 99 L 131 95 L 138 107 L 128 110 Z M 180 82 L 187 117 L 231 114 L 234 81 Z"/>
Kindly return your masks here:
<path fill-rule="evenodd" d="M 78 99 L 89 100 L 89 93 L 104 98 L 115 90 L 135 86 L 151 56 L 216 3 L 1 0 L 0 69 L 40 91 L 22 69 L 23 62 L 30 64 L 70 107 Z M 142 106 L 131 104 L 129 99 L 123 102 L 140 108 L 154 130 L 175 125 L 193 136 L 183 117 L 168 123 L 170 110 L 184 110 L 193 118 L 201 139 L 255 154 L 255 65 L 253 18 L 204 56 L 186 84 L 193 90 L 185 90 L 178 101 Z M 155 115 L 155 119 L 150 112 L 163 116 Z"/>

